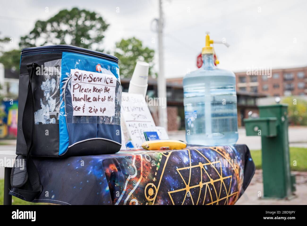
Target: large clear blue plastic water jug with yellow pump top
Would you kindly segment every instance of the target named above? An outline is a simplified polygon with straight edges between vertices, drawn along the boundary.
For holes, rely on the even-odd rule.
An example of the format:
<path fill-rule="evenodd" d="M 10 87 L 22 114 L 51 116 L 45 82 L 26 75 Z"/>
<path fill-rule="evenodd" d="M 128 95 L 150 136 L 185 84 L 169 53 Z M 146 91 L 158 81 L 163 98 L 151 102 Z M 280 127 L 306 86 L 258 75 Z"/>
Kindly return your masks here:
<path fill-rule="evenodd" d="M 238 140 L 235 74 L 214 64 L 213 41 L 206 36 L 203 65 L 183 79 L 188 144 L 233 145 Z"/>

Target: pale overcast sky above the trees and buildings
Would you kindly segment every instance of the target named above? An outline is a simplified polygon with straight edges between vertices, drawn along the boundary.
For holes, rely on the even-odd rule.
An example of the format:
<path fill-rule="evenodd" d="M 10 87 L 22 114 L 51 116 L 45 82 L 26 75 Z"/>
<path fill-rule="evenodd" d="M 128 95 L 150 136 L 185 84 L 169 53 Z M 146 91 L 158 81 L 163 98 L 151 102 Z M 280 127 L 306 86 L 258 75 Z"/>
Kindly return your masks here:
<path fill-rule="evenodd" d="M 14 38 L 14 43 L 8 44 L 6 49 L 16 48 L 19 37 L 29 33 L 38 19 L 48 19 L 61 9 L 77 6 L 100 13 L 110 24 L 103 39 L 104 49 L 112 53 L 116 41 L 135 36 L 145 46 L 156 50 L 155 71 L 158 70 L 157 34 L 150 26 L 158 16 L 157 0 L 75 0 L 69 3 L 2 0 L 1 5 L 1 37 Z M 240 72 L 251 67 L 307 66 L 306 8 L 305 0 L 164 0 L 165 76 L 181 77 L 188 70 L 196 69 L 196 56 L 205 45 L 207 31 L 213 40 L 225 38 L 230 45 L 229 48 L 214 45 L 220 68 Z"/>

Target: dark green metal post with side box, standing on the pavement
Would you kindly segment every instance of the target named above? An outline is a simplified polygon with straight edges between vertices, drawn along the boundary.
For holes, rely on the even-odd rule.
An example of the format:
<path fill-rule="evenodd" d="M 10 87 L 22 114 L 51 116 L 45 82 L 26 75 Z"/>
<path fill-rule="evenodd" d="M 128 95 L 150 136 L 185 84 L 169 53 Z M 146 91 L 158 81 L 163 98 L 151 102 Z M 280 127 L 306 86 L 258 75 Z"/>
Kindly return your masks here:
<path fill-rule="evenodd" d="M 290 173 L 288 105 L 259 106 L 259 115 L 244 124 L 247 136 L 261 136 L 264 197 L 290 198 L 295 176 Z"/>

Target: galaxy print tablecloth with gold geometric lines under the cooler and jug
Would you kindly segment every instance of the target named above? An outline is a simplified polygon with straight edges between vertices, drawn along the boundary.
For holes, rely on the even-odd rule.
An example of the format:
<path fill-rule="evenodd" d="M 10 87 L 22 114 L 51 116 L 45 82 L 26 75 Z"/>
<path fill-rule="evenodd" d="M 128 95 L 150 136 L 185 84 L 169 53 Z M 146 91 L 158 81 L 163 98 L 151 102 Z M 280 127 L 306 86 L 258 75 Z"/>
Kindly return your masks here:
<path fill-rule="evenodd" d="M 35 158 L 34 202 L 101 205 L 232 205 L 255 172 L 246 145 Z M 14 191 L 11 195 L 23 199 Z"/>

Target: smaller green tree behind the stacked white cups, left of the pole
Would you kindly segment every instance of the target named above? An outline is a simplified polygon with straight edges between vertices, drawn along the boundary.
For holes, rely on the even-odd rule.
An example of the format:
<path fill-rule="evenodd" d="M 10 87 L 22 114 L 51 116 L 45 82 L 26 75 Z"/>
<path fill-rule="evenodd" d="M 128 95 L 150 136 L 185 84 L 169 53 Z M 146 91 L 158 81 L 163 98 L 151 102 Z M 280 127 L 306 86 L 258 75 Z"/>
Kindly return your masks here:
<path fill-rule="evenodd" d="M 122 39 L 115 44 L 114 55 L 119 59 L 120 74 L 131 78 L 137 61 L 149 63 L 149 75 L 152 75 L 154 50 L 144 47 L 135 37 Z"/>

